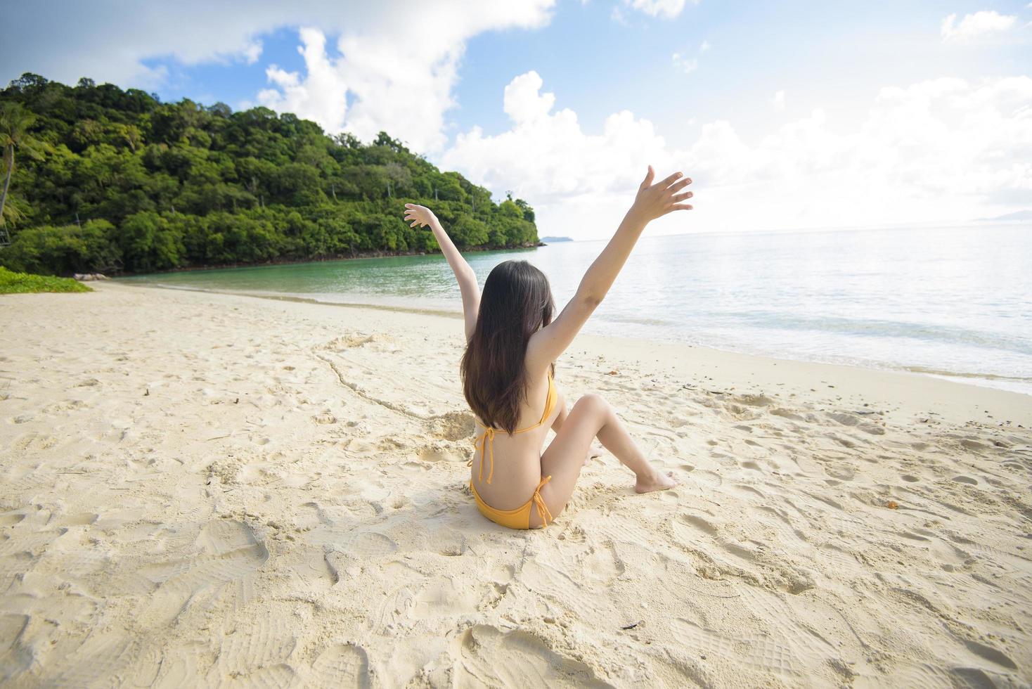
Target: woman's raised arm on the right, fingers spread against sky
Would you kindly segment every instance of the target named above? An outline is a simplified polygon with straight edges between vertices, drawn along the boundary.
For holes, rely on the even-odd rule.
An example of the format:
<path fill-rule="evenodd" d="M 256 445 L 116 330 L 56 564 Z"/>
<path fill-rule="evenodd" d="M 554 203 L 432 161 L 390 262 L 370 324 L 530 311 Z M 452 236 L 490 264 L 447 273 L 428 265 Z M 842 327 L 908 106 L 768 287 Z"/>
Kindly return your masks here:
<path fill-rule="evenodd" d="M 675 172 L 663 182 L 653 185 L 655 172 L 649 165 L 645 179 L 638 188 L 638 196 L 632 204 L 623 222 L 616 229 L 613 238 L 602 250 L 599 258 L 581 278 L 577 294 L 567 303 L 558 317 L 548 326 L 530 336 L 527 343 L 526 363 L 531 373 L 542 373 L 555 359 L 562 354 L 588 317 L 613 286 L 616 275 L 631 255 L 631 250 L 638 242 L 645 226 L 651 221 L 674 210 L 690 210 L 691 206 L 682 203 L 691 198 L 691 192 L 681 192 L 691 184 L 691 179 Z"/>

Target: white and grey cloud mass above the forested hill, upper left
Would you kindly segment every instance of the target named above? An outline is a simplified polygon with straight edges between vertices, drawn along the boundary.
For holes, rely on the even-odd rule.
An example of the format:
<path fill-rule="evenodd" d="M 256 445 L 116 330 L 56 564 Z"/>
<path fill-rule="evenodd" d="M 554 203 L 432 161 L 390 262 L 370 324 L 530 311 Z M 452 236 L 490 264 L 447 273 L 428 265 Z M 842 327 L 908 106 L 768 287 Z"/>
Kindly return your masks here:
<path fill-rule="evenodd" d="M 183 0 L 140 2 L 126 12 L 119 3 L 54 0 L 46 15 L 61 21 L 40 22 L 38 7 L 22 2 L 5 9 L 5 26 L 24 30 L 5 36 L 6 74 L 0 76 L 32 71 L 66 84 L 91 76 L 150 89 L 167 76 L 150 59 L 253 63 L 261 55 L 262 35 L 283 27 L 318 27 L 301 31 L 304 70 L 270 66 L 269 88 L 255 100 L 365 139 L 386 129 L 418 151 L 432 152 L 445 141 L 444 113 L 454 105 L 452 89 L 466 41 L 485 31 L 544 26 L 553 5 L 554 0 L 253 0 L 241 10 L 232 3 Z M 327 51 L 326 36 L 337 37 L 340 56 Z"/>

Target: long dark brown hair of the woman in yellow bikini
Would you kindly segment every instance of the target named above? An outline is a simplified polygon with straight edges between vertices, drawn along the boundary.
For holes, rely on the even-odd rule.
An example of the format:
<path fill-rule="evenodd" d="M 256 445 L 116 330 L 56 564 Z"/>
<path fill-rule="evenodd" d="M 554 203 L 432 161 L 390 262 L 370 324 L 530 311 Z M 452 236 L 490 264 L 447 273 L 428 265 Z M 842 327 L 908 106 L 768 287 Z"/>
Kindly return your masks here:
<path fill-rule="evenodd" d="M 461 374 L 470 408 L 488 426 L 516 430 L 519 405 L 526 399 L 526 345 L 552 322 L 553 310 L 548 277 L 526 261 L 499 263 L 484 282 Z"/>

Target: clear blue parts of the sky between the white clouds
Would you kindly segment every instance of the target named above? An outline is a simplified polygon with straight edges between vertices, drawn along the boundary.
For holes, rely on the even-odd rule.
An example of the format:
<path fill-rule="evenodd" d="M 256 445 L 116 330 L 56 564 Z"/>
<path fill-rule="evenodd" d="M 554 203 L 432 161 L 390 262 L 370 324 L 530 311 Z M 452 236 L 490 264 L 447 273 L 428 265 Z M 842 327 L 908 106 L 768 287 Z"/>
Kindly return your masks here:
<path fill-rule="evenodd" d="M 1032 22 L 1032 10 L 1025 5 L 994 6 Z M 833 101 L 848 117 L 886 84 L 931 76 L 1019 75 L 1032 64 L 1028 40 L 943 50 L 942 19 L 955 11 L 978 11 L 982 3 L 882 1 L 864 3 L 858 11 L 848 3 L 703 2 L 688 3 L 672 20 L 624 11 L 622 22 L 613 18 L 614 6 L 560 2 L 543 28 L 501 29 L 472 37 L 461 60 L 458 106 L 449 111 L 450 124 L 463 131 L 479 125 L 488 134 L 507 129 L 502 91 L 513 76 L 531 69 L 542 74 L 549 90 L 561 94 L 559 106 L 577 111 L 586 129 L 600 128 L 607 114 L 630 105 L 671 132 L 673 139 L 689 119 L 734 117 L 762 128 L 754 122 L 764 119 L 760 107 L 751 114 L 748 107 L 741 108 L 747 95 L 753 95 L 759 106 L 776 90 L 786 90 L 801 96 L 795 104 L 801 111 L 828 107 Z M 712 47 L 699 56 L 699 67 L 690 74 L 679 73 L 671 56 L 698 52 L 703 41 Z M 261 58 L 253 64 L 237 60 L 186 66 L 172 56 L 144 62 L 167 70 L 168 78 L 153 89 L 164 100 L 221 100 L 239 108 L 253 104 L 255 95 L 267 87 L 269 64 L 288 71 L 303 69 L 297 27 L 263 34 L 261 43 Z M 340 55 L 331 41 L 328 46 L 330 55 Z"/>

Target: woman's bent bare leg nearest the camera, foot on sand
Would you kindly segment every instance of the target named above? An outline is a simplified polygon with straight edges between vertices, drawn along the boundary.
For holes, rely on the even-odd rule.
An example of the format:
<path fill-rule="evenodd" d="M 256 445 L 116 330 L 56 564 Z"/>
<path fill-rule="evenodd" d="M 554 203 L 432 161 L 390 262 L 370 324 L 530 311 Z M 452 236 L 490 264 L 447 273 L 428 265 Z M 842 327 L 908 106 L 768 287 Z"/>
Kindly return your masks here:
<path fill-rule="evenodd" d="M 562 512 L 573 495 L 580 470 L 584 466 L 583 458 L 589 452 L 595 436 L 624 466 L 635 472 L 635 490 L 639 493 L 665 490 L 677 485 L 671 473 L 662 473 L 645 458 L 609 402 L 599 395 L 584 395 L 574 404 L 555 438 L 541 456 L 542 475 L 552 477 L 542 487 L 541 496 L 553 517 Z M 541 524 L 537 510 L 530 513 L 530 522 L 531 526 Z"/>

